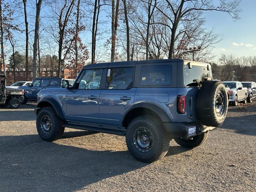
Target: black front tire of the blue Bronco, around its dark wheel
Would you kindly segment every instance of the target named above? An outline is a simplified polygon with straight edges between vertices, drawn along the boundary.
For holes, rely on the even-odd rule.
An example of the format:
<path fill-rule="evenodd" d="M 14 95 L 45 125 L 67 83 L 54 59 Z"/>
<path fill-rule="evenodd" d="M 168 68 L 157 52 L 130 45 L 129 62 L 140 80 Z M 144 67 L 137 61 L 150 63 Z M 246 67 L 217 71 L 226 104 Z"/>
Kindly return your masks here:
<path fill-rule="evenodd" d="M 42 127 L 43 118 L 48 117 L 50 119 L 51 128 L 46 131 Z M 64 121 L 56 114 L 53 107 L 44 107 L 42 108 L 36 117 L 36 129 L 38 135 L 42 140 L 45 141 L 54 141 L 62 137 L 64 133 L 64 127 L 62 126 Z"/>

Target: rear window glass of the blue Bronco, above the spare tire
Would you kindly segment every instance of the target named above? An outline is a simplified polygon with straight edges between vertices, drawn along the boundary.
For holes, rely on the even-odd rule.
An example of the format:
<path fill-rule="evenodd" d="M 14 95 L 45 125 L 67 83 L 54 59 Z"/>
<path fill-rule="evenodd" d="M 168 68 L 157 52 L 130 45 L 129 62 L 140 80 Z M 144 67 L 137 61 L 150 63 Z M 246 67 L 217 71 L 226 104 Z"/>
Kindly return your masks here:
<path fill-rule="evenodd" d="M 204 81 L 204 78 L 212 79 L 212 71 L 208 71 L 207 67 L 203 66 L 192 66 L 188 68 L 188 65 L 184 65 L 184 85 L 185 86 L 198 86 L 193 80 Z"/>

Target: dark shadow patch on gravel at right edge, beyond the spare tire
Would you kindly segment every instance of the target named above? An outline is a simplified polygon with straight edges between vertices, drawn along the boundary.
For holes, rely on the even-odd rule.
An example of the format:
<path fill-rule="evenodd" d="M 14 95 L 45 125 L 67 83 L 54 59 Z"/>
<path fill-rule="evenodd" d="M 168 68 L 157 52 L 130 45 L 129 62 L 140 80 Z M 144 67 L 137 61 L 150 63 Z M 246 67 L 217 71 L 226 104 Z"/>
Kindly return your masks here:
<path fill-rule="evenodd" d="M 245 115 L 239 117 L 226 117 L 220 128 L 234 130 L 237 133 L 245 135 L 256 135 L 255 115 Z"/>

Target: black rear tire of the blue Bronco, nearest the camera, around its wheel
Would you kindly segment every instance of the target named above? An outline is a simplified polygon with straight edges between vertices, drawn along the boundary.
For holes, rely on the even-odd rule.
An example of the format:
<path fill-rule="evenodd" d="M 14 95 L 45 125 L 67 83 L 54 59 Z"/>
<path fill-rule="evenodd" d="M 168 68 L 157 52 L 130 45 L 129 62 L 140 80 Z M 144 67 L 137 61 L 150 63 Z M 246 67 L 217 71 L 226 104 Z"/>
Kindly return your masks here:
<path fill-rule="evenodd" d="M 152 134 L 152 146 L 142 150 L 136 142 L 138 130 L 146 128 Z M 154 116 L 139 116 L 134 118 L 126 131 L 126 144 L 132 156 L 141 162 L 150 163 L 163 158 L 168 152 L 171 137 L 166 132 L 161 120 Z"/>

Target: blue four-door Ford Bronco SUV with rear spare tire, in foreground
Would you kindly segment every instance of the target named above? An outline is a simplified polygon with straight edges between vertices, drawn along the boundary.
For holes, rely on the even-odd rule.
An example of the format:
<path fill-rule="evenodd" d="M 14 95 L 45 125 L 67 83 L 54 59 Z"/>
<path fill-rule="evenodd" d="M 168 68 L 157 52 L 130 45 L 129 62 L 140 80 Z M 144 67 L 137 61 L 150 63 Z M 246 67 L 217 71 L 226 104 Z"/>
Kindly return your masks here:
<path fill-rule="evenodd" d="M 72 86 L 38 93 L 36 128 L 46 141 L 65 127 L 122 135 L 134 158 L 153 162 L 173 138 L 194 148 L 224 122 L 228 95 L 212 79 L 210 64 L 181 59 L 89 64 Z"/>

